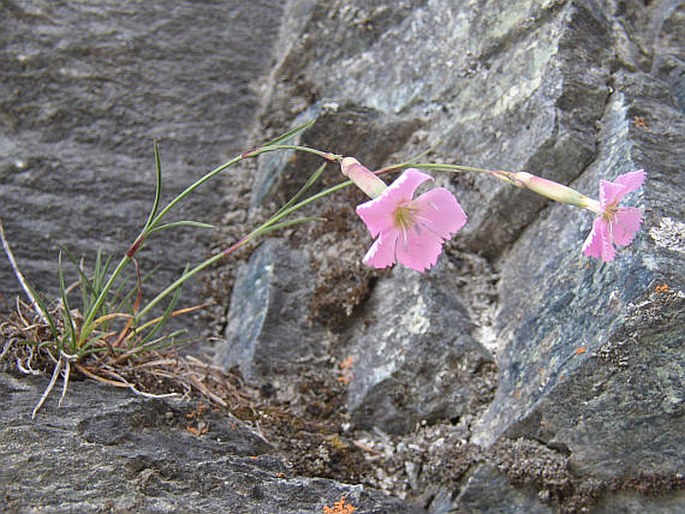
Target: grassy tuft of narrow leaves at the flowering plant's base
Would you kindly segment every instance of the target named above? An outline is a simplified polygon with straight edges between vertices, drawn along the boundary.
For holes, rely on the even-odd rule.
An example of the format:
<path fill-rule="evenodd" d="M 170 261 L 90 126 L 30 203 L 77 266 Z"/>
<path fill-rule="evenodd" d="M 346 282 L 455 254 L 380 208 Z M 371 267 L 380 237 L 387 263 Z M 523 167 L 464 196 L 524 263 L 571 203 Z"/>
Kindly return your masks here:
<path fill-rule="evenodd" d="M 204 304 L 177 309 L 181 292 L 178 288 L 161 315 L 143 323 L 136 322 L 142 286 L 152 273 L 141 277 L 136 266 L 134 279 L 124 277 L 105 291 L 111 274 L 111 259 L 98 252 L 92 270 L 88 271 L 83 261 L 77 261 L 67 251 L 60 253 L 58 260 L 59 298 L 48 302 L 22 276 L 1 224 L 0 236 L 15 274 L 30 298 L 30 303 L 17 299 L 13 316 L 3 323 L 5 345 L 0 357 L 12 355 L 17 369 L 26 374 L 52 369 L 52 378 L 33 410 L 34 417 L 60 376 L 63 379 L 61 404 L 74 370 L 142 395 L 167 396 L 187 394 L 193 388 L 206 389 L 197 375 L 188 373 L 202 363 L 187 358 L 181 363 L 179 357 L 173 355 L 182 342 L 183 331 L 162 331 L 171 318 L 194 312 Z M 64 256 L 78 276 L 69 285 L 65 279 Z M 98 301 L 100 298 L 103 300 Z M 94 313 L 94 316 L 86 325 L 87 313 Z M 185 378 L 179 373 L 184 366 Z M 168 392 L 162 395 L 150 392 L 160 389 Z M 223 402 L 217 399 L 218 403 Z"/>

